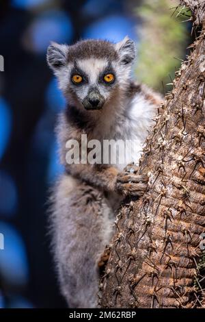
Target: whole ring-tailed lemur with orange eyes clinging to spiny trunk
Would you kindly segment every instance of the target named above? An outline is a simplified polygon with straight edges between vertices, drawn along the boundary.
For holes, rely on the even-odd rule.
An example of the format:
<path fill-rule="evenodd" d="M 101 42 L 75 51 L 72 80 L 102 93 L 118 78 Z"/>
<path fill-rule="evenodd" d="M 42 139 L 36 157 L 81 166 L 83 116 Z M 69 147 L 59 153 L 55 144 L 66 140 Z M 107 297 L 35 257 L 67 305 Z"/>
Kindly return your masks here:
<path fill-rule="evenodd" d="M 83 40 L 49 46 L 47 60 L 68 104 L 57 136 L 65 165 L 53 192 L 53 248 L 61 292 L 68 306 L 94 308 L 98 302 L 99 263 L 113 232 L 124 195 L 143 194 L 146 176 L 122 171 L 122 164 L 67 164 L 66 142 L 134 140 L 126 160 L 138 162 L 142 144 L 161 97 L 131 80 L 135 45 Z M 112 202 L 111 202 L 112 201 Z"/>

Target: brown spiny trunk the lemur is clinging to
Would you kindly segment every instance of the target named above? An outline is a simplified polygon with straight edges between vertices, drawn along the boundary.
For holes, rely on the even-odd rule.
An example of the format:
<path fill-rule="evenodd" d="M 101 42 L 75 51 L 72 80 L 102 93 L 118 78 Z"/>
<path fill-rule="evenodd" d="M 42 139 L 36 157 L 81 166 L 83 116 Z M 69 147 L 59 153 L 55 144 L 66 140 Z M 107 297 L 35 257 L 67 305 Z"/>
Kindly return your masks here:
<path fill-rule="evenodd" d="M 205 1 L 182 3 L 203 21 Z M 204 306 L 204 29 L 192 47 L 146 141 L 139 172 L 149 175 L 148 192 L 118 214 L 102 308 Z"/>

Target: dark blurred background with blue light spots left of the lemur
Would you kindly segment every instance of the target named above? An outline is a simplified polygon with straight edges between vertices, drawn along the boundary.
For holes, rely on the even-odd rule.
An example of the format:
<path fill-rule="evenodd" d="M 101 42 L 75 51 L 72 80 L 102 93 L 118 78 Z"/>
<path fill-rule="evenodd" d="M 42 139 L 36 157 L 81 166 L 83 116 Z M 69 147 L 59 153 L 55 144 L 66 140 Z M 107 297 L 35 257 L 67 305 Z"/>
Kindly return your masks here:
<path fill-rule="evenodd" d="M 0 308 L 60 308 L 50 253 L 49 187 L 62 171 L 54 127 L 64 97 L 46 65 L 51 40 L 137 41 L 137 0 L 0 3 Z"/>

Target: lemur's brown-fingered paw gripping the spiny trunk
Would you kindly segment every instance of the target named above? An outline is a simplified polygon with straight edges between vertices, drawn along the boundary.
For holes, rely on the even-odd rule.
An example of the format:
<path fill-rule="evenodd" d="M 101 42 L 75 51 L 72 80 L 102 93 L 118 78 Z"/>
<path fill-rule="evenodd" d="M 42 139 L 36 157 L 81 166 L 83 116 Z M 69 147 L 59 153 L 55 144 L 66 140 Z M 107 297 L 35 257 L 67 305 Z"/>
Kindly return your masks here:
<path fill-rule="evenodd" d="M 137 174 L 138 167 L 135 164 L 128 164 L 124 171 L 118 174 L 115 187 L 122 195 L 141 197 L 148 184 L 147 175 Z"/>

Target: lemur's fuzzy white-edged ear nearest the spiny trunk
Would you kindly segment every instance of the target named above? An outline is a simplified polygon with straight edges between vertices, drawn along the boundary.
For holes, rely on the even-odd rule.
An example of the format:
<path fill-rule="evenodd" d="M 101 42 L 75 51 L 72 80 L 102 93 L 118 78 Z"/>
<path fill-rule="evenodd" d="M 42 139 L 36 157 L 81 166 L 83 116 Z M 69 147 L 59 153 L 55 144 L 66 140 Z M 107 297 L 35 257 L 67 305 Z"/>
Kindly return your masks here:
<path fill-rule="evenodd" d="M 136 56 L 135 42 L 126 36 L 122 41 L 115 45 L 115 49 L 120 55 L 121 64 L 130 64 Z"/>

